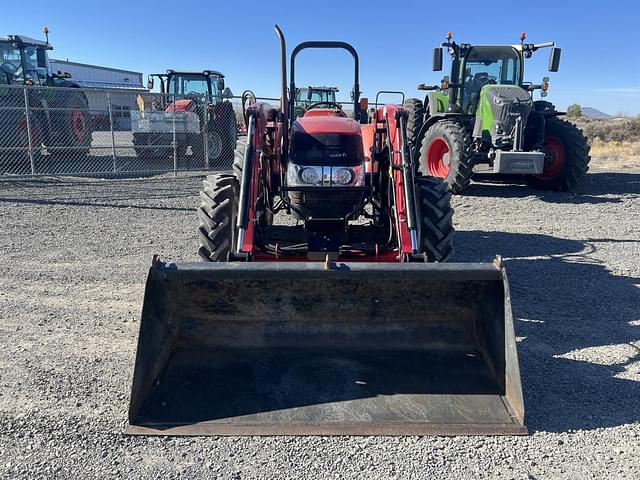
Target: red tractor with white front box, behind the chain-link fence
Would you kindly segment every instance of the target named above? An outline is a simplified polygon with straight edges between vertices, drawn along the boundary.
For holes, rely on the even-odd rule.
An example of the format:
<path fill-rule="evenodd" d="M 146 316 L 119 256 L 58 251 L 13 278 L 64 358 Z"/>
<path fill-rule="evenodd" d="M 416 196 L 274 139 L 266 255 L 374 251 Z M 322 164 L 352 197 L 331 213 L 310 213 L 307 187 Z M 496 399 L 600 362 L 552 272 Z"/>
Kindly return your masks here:
<path fill-rule="evenodd" d="M 167 70 L 149 75 L 149 90 L 154 78 L 160 81 L 161 96 L 150 105 L 139 96 L 139 111 L 132 114 L 136 155 L 145 160 L 173 159 L 175 141 L 178 167 L 229 169 L 238 123 L 226 100 L 233 94 L 225 88 L 224 75 L 215 70 Z"/>

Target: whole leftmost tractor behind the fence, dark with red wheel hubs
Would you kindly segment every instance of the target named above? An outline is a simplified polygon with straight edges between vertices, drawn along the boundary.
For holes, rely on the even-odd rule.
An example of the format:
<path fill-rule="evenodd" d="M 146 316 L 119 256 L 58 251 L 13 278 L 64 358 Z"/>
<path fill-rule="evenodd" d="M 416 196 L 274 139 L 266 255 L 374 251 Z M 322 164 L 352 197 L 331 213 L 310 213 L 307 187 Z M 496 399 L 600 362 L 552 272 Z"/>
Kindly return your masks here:
<path fill-rule="evenodd" d="M 22 35 L 0 37 L 0 170 L 3 172 L 32 173 L 31 169 L 38 167 L 44 152 L 49 159 L 80 160 L 87 157 L 91 148 L 87 98 L 77 90 L 79 85 L 69 80 L 69 74 L 53 73 L 47 53 L 53 47 L 46 27 L 44 32 L 45 42 Z M 30 88 L 25 99 L 22 88 L 3 86 Z M 25 101 L 29 105 L 28 118 Z M 34 159 L 31 166 L 30 158 Z"/>

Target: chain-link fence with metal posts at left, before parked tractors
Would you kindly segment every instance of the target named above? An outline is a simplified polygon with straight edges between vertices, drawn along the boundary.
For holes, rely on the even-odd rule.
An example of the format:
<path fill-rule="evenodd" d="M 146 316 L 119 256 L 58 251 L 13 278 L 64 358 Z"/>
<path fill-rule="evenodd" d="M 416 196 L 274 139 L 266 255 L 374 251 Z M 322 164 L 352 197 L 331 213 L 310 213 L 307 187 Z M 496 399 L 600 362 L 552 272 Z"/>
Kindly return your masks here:
<path fill-rule="evenodd" d="M 228 170 L 246 134 L 241 103 L 145 90 L 2 86 L 0 175 Z"/>

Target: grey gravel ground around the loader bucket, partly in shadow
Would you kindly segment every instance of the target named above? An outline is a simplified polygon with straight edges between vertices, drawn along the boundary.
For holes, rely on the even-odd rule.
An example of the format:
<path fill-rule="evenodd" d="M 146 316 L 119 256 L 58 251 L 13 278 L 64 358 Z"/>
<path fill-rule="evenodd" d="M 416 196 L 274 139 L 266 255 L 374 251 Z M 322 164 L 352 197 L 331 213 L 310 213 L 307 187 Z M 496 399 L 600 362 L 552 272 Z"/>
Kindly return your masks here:
<path fill-rule="evenodd" d="M 0 180 L 0 478 L 640 478 L 640 172 L 474 184 L 458 261 L 506 259 L 528 437 L 122 434 L 151 255 L 200 178 Z"/>

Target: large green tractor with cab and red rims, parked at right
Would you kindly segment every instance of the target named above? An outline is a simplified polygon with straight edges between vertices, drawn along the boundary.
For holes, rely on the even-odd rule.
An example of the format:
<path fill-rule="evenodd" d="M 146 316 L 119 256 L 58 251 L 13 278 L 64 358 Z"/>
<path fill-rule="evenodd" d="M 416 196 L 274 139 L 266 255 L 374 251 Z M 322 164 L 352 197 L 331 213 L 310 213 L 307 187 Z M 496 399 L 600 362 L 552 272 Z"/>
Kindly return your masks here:
<path fill-rule="evenodd" d="M 589 146 L 582 132 L 544 100 L 549 79 L 524 81 L 524 62 L 551 47 L 549 71 L 557 72 L 561 50 L 555 43 L 480 46 L 456 43 L 451 33 L 442 47 L 451 55 L 451 74 L 428 90 L 424 101 L 408 99 L 407 125 L 414 158 L 423 174 L 443 178 L 460 193 L 476 171 L 521 177 L 538 189 L 567 191 L 587 172 Z M 434 50 L 433 70 L 442 70 L 443 48 Z M 484 168 L 483 168 L 484 167 Z"/>

